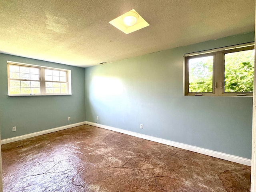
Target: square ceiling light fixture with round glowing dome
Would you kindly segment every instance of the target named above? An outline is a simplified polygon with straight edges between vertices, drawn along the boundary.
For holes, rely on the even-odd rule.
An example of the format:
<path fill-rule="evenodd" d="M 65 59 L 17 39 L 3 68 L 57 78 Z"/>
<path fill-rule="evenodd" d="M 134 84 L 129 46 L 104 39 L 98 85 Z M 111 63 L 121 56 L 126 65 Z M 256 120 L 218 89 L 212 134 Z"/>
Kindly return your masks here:
<path fill-rule="evenodd" d="M 138 12 L 136 12 L 134 9 L 122 14 L 118 18 L 113 19 L 109 23 L 125 34 L 129 34 L 149 26 L 148 22 L 146 22 L 146 20 L 144 20 L 144 18 L 142 18 L 142 16 L 140 16 L 140 14 L 138 14 Z"/>

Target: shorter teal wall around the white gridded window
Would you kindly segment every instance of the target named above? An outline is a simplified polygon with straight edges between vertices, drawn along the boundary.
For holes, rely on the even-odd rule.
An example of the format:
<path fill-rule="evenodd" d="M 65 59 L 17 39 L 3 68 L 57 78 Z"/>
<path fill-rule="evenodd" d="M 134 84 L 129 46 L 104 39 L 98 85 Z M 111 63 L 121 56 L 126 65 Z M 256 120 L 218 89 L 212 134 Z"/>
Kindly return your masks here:
<path fill-rule="evenodd" d="M 8 96 L 7 60 L 71 70 L 72 95 Z M 1 138 L 11 138 L 85 121 L 84 68 L 0 54 Z M 71 121 L 68 121 L 71 117 Z M 16 126 L 16 132 L 12 132 Z"/>

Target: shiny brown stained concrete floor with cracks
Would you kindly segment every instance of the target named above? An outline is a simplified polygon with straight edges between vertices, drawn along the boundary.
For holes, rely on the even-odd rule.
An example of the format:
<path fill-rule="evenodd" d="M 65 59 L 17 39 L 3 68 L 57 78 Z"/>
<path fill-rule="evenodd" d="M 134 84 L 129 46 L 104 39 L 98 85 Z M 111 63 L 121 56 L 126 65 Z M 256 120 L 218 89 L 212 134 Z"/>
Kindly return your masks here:
<path fill-rule="evenodd" d="M 78 126 L 2 145 L 4 192 L 249 192 L 250 167 Z"/>

